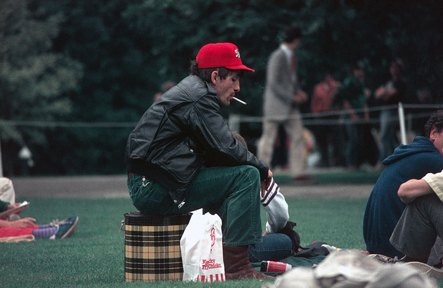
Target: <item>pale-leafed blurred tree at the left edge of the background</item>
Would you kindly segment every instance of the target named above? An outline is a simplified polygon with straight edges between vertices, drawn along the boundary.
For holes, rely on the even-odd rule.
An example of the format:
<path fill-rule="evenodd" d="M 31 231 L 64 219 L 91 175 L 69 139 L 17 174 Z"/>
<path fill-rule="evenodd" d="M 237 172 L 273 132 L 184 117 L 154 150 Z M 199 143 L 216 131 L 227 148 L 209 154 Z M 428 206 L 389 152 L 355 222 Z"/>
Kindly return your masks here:
<path fill-rule="evenodd" d="M 25 0 L 0 1 L 0 135 L 7 174 L 17 169 L 23 145 L 48 144 L 44 130 L 15 121 L 54 121 L 72 109 L 69 92 L 77 88 L 82 65 L 52 50 L 62 19 L 62 12 L 48 15 Z"/>

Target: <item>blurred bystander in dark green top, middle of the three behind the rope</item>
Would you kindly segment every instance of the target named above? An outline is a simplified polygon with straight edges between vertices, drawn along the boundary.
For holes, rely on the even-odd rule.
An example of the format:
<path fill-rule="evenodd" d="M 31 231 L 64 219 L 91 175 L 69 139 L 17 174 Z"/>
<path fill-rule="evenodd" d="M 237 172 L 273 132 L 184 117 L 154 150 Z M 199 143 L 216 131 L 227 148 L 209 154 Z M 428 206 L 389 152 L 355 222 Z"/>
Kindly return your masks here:
<path fill-rule="evenodd" d="M 364 130 L 359 121 L 369 120 L 366 99 L 370 96 L 370 91 L 365 88 L 365 71 L 360 64 L 352 66 L 352 75 L 343 81 L 338 89 L 338 96 L 343 109 L 347 111 L 345 118 L 350 121 L 346 124 L 346 162 L 347 168 L 354 170 L 359 168 L 363 158 L 361 154 L 365 153 L 362 149 Z"/>

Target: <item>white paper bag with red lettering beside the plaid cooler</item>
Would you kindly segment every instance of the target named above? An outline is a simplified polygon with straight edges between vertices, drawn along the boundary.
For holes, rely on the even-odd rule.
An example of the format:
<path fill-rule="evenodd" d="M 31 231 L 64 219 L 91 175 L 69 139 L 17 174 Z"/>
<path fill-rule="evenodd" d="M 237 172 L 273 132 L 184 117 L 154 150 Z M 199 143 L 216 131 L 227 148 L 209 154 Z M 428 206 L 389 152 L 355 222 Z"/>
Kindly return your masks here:
<path fill-rule="evenodd" d="M 218 215 L 192 215 L 180 240 L 183 281 L 225 280 L 222 241 Z"/>

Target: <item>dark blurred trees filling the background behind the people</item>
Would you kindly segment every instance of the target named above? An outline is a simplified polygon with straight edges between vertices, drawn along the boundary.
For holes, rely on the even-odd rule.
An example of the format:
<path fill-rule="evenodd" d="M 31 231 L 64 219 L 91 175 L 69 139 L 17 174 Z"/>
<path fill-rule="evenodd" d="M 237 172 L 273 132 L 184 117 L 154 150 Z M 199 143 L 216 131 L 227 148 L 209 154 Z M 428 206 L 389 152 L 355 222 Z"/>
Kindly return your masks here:
<path fill-rule="evenodd" d="M 161 83 L 179 82 L 210 42 L 233 42 L 255 69 L 242 79 L 260 116 L 266 62 L 289 24 L 302 28 L 298 73 L 308 93 L 331 72 L 343 80 L 361 62 L 368 86 L 388 80 L 395 57 L 406 62 L 408 101 L 442 102 L 443 8 L 437 0 L 2 0 L 0 1 L 0 144 L 3 173 L 125 172 L 131 125 Z M 309 107 L 304 107 L 309 111 Z M 260 123 L 246 133 L 260 136 Z M 19 158 L 32 152 L 33 167 Z"/>

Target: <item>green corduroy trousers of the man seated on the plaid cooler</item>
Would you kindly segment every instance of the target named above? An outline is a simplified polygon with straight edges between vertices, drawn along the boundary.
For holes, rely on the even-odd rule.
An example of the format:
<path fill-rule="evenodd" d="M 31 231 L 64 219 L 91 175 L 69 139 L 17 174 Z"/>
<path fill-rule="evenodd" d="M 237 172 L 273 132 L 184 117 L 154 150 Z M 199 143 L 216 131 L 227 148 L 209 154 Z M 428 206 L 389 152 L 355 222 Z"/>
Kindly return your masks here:
<path fill-rule="evenodd" d="M 161 183 L 146 175 L 127 179 L 134 206 L 151 215 L 189 213 L 199 208 L 217 213 L 223 223 L 226 245 L 242 246 L 262 241 L 260 173 L 252 166 L 202 168 L 186 191 L 180 209 Z"/>

